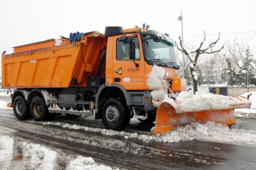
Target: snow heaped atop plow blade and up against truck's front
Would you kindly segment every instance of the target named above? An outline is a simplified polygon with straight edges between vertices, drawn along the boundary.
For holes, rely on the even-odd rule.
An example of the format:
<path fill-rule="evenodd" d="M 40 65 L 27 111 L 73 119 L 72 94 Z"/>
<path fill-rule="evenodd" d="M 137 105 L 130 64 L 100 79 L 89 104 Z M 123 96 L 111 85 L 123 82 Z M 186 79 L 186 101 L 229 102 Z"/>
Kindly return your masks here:
<path fill-rule="evenodd" d="M 148 87 L 152 90 L 150 94 L 155 107 L 158 107 L 161 102 L 168 102 L 176 108 L 177 113 L 183 113 L 187 111 L 235 108 L 239 107 L 241 103 L 248 102 L 247 99 L 237 99 L 225 95 L 211 93 L 194 95 L 184 91 L 179 93 L 176 100 L 173 100 L 167 96 L 168 86 L 163 79 L 164 74 L 165 70 L 163 68 L 154 65 L 147 80 Z"/>

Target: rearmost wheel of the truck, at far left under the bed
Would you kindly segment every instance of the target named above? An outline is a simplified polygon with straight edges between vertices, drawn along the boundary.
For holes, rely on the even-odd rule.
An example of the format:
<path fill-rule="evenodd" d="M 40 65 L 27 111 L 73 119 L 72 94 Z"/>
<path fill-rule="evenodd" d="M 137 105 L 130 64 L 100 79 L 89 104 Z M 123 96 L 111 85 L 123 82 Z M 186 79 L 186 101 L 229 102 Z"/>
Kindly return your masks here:
<path fill-rule="evenodd" d="M 14 115 L 17 119 L 27 119 L 27 103 L 22 96 L 18 95 L 15 97 L 13 109 Z"/>

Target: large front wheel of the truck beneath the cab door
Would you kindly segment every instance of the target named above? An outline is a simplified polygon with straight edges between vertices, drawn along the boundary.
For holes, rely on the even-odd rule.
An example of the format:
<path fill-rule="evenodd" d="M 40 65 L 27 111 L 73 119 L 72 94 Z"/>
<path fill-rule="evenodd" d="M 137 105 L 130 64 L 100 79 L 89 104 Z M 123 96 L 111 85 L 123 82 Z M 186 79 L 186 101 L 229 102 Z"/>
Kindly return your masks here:
<path fill-rule="evenodd" d="M 102 122 L 106 129 L 122 131 L 130 123 L 129 111 L 119 100 L 109 98 L 103 106 Z"/>

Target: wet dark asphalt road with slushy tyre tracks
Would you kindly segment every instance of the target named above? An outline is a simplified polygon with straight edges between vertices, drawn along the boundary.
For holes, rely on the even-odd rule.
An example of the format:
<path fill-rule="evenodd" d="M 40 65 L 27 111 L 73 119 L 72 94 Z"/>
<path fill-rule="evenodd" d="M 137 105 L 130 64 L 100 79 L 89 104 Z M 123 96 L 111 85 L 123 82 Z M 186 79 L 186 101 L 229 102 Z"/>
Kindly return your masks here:
<path fill-rule="evenodd" d="M 0 100 L 8 99 L 1 97 Z M 104 129 L 101 121 L 92 118 L 60 115 L 55 121 Z M 151 134 L 152 126 L 132 121 L 126 132 Z M 237 119 L 234 128 L 256 130 L 256 119 Z M 19 121 L 12 110 L 0 110 L 0 133 L 67 154 L 92 156 L 98 163 L 119 169 L 256 169 L 256 147 L 198 140 L 147 143 L 121 136 L 106 136 L 100 132 Z"/>

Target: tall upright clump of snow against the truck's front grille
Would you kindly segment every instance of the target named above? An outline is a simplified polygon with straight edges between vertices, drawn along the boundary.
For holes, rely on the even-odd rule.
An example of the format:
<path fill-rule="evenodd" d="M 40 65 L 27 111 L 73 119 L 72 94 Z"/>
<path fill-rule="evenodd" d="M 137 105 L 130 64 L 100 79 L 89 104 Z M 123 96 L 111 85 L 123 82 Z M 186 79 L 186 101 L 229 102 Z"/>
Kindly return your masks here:
<path fill-rule="evenodd" d="M 148 76 L 147 84 L 151 90 L 150 94 L 153 100 L 163 100 L 167 94 L 168 86 L 164 80 L 165 70 L 161 67 L 153 66 L 150 75 Z"/>

